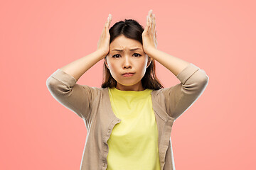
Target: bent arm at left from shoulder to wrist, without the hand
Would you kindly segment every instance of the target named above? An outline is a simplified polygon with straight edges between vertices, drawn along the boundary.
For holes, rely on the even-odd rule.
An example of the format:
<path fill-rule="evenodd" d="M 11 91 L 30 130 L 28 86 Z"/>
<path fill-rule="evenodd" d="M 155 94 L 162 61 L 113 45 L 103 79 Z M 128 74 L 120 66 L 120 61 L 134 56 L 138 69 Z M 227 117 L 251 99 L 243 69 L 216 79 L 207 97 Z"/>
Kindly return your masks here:
<path fill-rule="evenodd" d="M 80 85 L 76 82 L 90 67 L 104 56 L 97 50 L 90 55 L 75 60 L 57 69 L 46 80 L 50 94 L 63 106 L 77 113 L 80 118 L 90 121 L 90 105 L 94 96 L 100 93 L 99 88 Z"/>

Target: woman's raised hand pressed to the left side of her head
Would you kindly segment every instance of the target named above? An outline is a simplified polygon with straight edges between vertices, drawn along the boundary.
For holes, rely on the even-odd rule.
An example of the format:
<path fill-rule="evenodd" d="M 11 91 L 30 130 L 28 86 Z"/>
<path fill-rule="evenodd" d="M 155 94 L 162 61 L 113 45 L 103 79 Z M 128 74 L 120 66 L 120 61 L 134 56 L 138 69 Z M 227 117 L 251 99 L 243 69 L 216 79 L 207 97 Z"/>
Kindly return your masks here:
<path fill-rule="evenodd" d="M 105 56 L 110 52 L 110 23 L 112 21 L 112 15 L 109 14 L 105 26 L 100 35 L 100 40 L 97 43 L 97 50 L 104 52 Z"/>

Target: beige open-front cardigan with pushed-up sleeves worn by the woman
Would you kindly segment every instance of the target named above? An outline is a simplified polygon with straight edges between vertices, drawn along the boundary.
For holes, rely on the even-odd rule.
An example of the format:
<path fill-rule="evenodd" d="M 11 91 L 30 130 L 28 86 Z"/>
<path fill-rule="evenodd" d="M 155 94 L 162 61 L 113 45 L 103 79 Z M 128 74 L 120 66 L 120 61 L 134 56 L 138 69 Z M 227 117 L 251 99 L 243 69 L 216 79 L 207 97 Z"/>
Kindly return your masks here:
<path fill-rule="evenodd" d="M 172 125 L 201 96 L 209 79 L 203 69 L 192 63 L 176 77 L 181 81 L 180 84 L 151 92 L 159 132 L 161 170 L 175 169 L 171 145 Z M 108 88 L 76 84 L 75 78 L 61 69 L 48 77 L 46 85 L 59 103 L 85 122 L 87 136 L 80 170 L 107 169 L 107 140 L 114 125 L 122 121 L 112 112 Z"/>

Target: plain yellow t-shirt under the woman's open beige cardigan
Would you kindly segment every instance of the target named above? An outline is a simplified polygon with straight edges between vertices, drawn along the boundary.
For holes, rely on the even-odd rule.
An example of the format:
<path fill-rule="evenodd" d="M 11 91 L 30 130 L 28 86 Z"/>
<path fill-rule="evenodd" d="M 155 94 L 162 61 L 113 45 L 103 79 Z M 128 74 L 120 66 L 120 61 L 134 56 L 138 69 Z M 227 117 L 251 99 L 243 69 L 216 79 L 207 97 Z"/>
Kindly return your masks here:
<path fill-rule="evenodd" d="M 121 122 L 107 141 L 107 170 L 160 170 L 151 91 L 109 89 L 112 110 Z"/>

